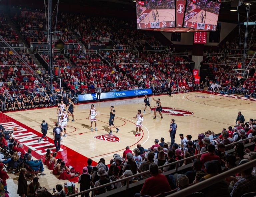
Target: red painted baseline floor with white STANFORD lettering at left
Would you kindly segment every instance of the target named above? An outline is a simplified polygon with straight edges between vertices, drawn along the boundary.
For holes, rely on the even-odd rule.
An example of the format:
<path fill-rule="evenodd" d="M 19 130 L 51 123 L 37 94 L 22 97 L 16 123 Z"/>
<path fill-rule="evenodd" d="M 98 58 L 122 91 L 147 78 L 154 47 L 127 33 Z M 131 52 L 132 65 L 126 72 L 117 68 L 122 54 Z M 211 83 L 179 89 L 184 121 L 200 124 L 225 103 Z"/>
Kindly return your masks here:
<path fill-rule="evenodd" d="M 32 149 L 32 155 L 37 159 L 44 159 L 46 149 L 50 148 L 52 151 L 55 151 L 54 141 L 50 138 L 49 141 L 41 141 L 38 143 L 38 139 L 42 136 L 41 133 L 35 131 L 34 129 L 22 124 L 19 121 L 14 120 L 13 118 L 0 113 L 0 124 L 8 131 L 13 131 L 13 128 L 16 127 L 17 131 L 13 131 L 14 138 L 18 143 L 23 143 L 23 148 L 26 151 L 28 148 Z M 62 151 L 58 152 L 57 158 L 62 158 L 66 165 L 72 165 L 76 171 L 80 171 L 84 166 L 87 165 L 88 157 L 68 148 L 64 145 L 61 145 Z M 92 165 L 97 163 L 93 161 Z M 71 181 L 78 181 L 77 177 L 71 179 Z"/>

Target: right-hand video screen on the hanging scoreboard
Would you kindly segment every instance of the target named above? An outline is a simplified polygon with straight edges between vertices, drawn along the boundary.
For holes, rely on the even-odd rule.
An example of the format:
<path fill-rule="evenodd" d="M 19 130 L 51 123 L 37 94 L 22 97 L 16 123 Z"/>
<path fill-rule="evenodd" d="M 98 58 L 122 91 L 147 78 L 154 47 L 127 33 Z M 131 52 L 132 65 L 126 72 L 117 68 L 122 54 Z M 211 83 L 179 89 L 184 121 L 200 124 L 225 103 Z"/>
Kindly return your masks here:
<path fill-rule="evenodd" d="M 187 0 L 184 28 L 216 31 L 220 2 Z"/>

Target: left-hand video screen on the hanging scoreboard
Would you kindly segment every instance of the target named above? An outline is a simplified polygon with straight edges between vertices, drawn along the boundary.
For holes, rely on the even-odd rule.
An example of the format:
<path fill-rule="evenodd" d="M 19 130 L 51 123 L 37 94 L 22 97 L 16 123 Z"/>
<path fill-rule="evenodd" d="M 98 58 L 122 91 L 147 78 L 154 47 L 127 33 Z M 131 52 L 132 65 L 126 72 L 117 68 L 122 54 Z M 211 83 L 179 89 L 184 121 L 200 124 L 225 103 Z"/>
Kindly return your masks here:
<path fill-rule="evenodd" d="M 175 27 L 174 0 L 136 1 L 137 28 Z"/>

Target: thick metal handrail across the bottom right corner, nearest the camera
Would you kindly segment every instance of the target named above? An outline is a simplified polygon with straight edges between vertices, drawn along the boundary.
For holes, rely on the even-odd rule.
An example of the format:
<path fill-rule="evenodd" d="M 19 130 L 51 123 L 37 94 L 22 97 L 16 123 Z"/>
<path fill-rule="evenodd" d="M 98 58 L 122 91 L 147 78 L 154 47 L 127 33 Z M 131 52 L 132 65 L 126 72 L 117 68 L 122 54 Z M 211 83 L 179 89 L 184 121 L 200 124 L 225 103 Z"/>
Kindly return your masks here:
<path fill-rule="evenodd" d="M 237 167 L 234 167 L 230 170 L 227 170 L 225 172 L 222 172 L 220 174 L 217 174 L 209 179 L 206 179 L 204 181 L 201 181 L 199 183 L 196 183 L 194 185 L 191 185 L 187 188 L 184 188 L 180 191 L 177 191 L 173 194 L 167 195 L 166 197 L 180 197 L 180 196 L 188 196 L 194 192 L 200 191 L 206 187 L 209 187 L 210 185 L 213 185 L 217 182 L 219 182 L 220 180 L 225 179 L 226 177 L 232 176 L 234 175 L 236 172 L 240 172 L 240 171 L 244 171 L 250 167 L 254 167 L 256 165 L 256 159 L 249 161 L 247 163 L 244 163 L 242 165 L 239 165 Z"/>

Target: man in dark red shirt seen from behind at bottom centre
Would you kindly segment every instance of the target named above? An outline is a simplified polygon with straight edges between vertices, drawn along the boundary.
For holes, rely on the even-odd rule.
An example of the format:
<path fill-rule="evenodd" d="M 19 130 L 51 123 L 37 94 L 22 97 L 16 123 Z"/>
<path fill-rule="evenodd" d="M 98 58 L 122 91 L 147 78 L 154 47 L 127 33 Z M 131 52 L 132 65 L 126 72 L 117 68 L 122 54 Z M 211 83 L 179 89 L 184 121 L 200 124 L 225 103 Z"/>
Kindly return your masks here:
<path fill-rule="evenodd" d="M 151 163 L 149 165 L 149 172 L 151 177 L 145 180 L 140 193 L 136 193 L 134 197 L 144 195 L 155 196 L 171 190 L 167 178 L 163 174 L 159 174 L 158 165 Z"/>

